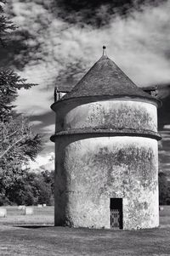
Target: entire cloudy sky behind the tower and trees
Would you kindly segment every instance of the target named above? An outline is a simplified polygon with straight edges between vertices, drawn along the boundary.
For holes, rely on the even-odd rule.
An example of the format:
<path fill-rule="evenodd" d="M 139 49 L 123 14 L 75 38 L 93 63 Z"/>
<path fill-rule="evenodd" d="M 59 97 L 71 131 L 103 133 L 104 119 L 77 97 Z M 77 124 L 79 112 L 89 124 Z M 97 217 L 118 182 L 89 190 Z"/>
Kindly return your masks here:
<path fill-rule="evenodd" d="M 30 117 L 46 141 L 31 168 L 54 168 L 54 86 L 73 87 L 99 60 L 102 46 L 139 87 L 159 86 L 160 169 L 170 167 L 170 0 L 10 0 L 6 14 L 17 31 L 2 55 L 28 82 L 16 111 Z"/>

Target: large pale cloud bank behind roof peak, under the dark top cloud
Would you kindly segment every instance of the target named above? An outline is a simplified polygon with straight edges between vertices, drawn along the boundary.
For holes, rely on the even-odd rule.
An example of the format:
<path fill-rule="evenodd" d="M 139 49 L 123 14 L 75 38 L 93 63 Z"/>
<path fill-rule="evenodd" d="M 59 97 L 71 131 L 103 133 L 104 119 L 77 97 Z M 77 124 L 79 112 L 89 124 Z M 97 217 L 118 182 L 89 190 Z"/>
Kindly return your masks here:
<path fill-rule="evenodd" d="M 139 86 L 170 81 L 170 1 L 156 7 L 147 5 L 143 12 L 133 10 L 127 19 L 113 15 L 110 24 L 99 29 L 59 20 L 42 1 L 13 0 L 11 6 L 14 22 L 30 33 L 27 46 L 37 46 L 37 50 L 29 52 L 22 74 L 30 77 L 31 82 L 39 82 L 39 89 L 54 87 L 59 71 L 65 70 L 66 74 L 69 63 L 80 62 L 80 68 L 87 70 L 99 59 L 103 44 L 111 59 Z M 75 72 L 81 71 L 77 68 Z"/>

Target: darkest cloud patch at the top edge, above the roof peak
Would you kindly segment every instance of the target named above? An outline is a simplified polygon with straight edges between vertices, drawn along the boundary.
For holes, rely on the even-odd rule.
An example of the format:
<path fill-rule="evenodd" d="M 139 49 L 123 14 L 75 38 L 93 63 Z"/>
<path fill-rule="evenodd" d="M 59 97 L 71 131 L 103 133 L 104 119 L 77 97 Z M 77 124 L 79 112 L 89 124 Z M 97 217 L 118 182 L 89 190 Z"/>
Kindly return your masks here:
<path fill-rule="evenodd" d="M 166 0 L 161 0 L 165 2 Z M 78 23 L 79 26 L 102 27 L 110 23 L 114 15 L 125 18 L 133 10 L 142 11 L 144 5 L 157 6 L 158 0 L 54 0 L 55 12 L 62 20 L 68 23 Z"/>

